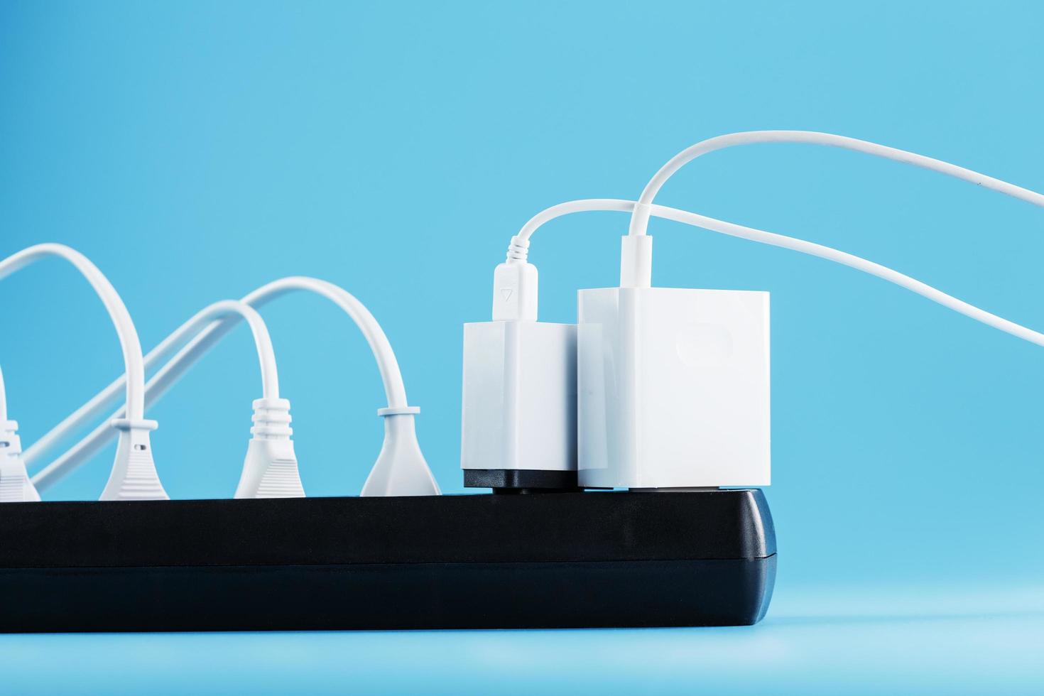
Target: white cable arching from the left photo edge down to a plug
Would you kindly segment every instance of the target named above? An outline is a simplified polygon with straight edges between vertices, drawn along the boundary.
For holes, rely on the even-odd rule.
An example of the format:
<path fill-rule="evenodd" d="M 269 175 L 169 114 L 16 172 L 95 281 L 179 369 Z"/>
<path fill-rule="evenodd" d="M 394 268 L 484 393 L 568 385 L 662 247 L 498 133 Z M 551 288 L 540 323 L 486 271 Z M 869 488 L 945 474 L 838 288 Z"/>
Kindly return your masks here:
<path fill-rule="evenodd" d="M 143 419 L 145 417 L 145 367 L 141 355 L 141 341 L 138 340 L 138 332 L 134 321 L 130 320 L 126 306 L 120 299 L 116 288 L 98 270 L 97 266 L 76 249 L 64 244 L 37 244 L 0 261 L 0 280 L 47 257 L 57 257 L 72 264 L 87 279 L 105 306 L 105 311 L 109 312 L 109 316 L 116 327 L 120 349 L 123 351 L 123 366 L 128 378 L 126 380 L 127 415 L 132 421 Z"/>

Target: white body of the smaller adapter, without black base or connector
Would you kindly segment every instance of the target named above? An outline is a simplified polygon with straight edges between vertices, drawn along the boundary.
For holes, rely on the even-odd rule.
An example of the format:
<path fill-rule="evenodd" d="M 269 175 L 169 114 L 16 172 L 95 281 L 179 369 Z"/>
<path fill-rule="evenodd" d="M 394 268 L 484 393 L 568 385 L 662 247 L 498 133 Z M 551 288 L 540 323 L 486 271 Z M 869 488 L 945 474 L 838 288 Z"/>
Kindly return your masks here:
<path fill-rule="evenodd" d="M 576 470 L 576 327 L 464 326 L 460 467 Z"/>

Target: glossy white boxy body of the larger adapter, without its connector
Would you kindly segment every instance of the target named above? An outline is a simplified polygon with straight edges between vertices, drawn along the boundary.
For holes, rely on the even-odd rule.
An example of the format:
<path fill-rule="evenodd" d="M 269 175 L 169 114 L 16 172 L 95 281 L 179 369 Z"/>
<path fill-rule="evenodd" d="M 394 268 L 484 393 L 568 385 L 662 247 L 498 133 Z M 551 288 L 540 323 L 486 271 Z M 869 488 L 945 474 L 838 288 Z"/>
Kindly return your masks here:
<path fill-rule="evenodd" d="M 768 293 L 580 290 L 579 485 L 769 483 Z"/>

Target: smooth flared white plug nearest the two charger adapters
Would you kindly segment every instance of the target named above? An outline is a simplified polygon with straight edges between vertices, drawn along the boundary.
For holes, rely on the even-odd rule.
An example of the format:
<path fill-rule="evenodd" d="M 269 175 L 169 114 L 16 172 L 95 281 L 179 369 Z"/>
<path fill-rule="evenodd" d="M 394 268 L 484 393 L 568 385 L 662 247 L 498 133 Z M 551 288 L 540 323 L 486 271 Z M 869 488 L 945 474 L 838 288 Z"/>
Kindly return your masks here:
<path fill-rule="evenodd" d="M 416 406 L 382 408 L 384 445 L 362 486 L 362 496 L 440 496 L 438 484 L 428 469 L 417 441 Z"/>

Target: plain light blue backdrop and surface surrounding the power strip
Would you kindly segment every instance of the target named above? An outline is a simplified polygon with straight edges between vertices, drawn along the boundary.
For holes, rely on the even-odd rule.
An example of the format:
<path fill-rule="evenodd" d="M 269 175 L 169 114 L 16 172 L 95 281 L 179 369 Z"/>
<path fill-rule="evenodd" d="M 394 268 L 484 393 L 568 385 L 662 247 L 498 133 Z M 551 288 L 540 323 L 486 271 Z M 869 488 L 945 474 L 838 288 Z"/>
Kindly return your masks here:
<path fill-rule="evenodd" d="M 0 255 L 73 245 L 146 350 L 287 274 L 381 320 L 424 451 L 460 491 L 461 323 L 537 211 L 636 197 L 683 147 L 820 129 L 1044 190 L 1033 2 L 0 4 Z M 839 247 L 1044 326 L 1044 213 L 851 152 L 766 145 L 659 202 Z M 626 216 L 533 239 L 541 318 L 616 284 Z M 655 221 L 661 286 L 773 293 L 777 595 L 754 628 L 6 637 L 16 691 L 699 688 L 948 692 L 1044 683 L 1038 346 L 827 262 Z M 122 371 L 57 262 L 0 287 L 28 445 Z M 325 301 L 265 310 L 311 495 L 354 495 L 381 442 L 365 343 Z M 230 496 L 260 395 L 237 329 L 152 415 L 175 498 Z M 48 491 L 95 498 L 112 451 Z M 503 659 L 522 674 L 504 676 Z M 542 681 L 544 679 L 550 679 Z"/>

